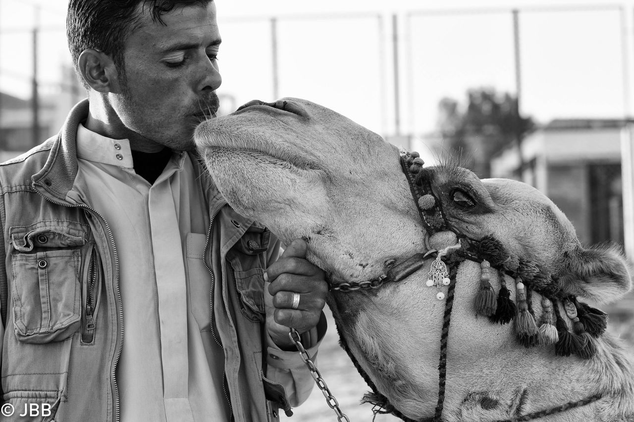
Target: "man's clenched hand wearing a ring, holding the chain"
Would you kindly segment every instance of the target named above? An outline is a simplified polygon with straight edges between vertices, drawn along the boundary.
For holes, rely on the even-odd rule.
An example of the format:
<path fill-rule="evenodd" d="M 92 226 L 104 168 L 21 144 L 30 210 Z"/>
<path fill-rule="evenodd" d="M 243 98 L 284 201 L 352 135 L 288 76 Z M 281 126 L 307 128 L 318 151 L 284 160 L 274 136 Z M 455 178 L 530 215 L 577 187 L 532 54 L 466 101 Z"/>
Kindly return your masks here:
<path fill-rule="evenodd" d="M 324 272 L 306 260 L 306 242 L 296 239 L 266 275 L 270 282 L 264 289 L 266 329 L 276 345 L 290 347 L 289 328 L 304 333 L 320 320 L 328 293 Z M 299 293 L 297 309 L 292 308 L 294 293 Z"/>

